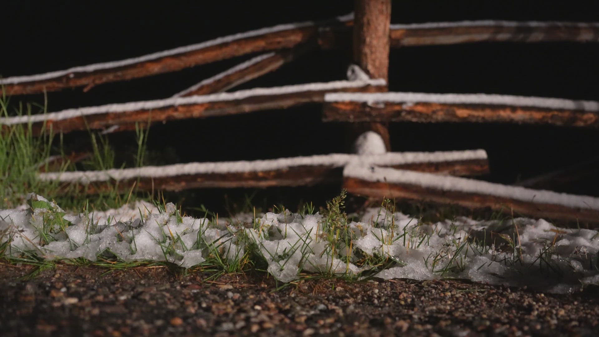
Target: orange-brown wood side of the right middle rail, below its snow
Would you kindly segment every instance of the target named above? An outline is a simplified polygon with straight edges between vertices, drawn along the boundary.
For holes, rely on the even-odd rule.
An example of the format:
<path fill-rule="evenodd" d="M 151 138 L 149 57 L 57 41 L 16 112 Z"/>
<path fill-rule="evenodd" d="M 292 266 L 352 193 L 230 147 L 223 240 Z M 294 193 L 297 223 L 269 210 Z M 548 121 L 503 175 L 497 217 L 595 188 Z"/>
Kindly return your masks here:
<path fill-rule="evenodd" d="M 502 122 L 599 127 L 599 112 L 483 104 L 332 102 L 323 107 L 331 122 Z"/>

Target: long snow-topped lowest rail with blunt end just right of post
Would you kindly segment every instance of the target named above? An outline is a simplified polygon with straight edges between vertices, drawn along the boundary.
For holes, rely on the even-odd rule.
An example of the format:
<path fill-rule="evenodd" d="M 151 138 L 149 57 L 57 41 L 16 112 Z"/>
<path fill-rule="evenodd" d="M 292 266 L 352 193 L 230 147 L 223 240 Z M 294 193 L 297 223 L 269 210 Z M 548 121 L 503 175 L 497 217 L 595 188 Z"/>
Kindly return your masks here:
<path fill-rule="evenodd" d="M 379 155 L 330 154 L 275 160 L 187 163 L 134 169 L 39 173 L 52 180 L 95 193 L 119 182 L 119 188 L 179 191 L 200 187 L 268 187 L 340 182 L 342 168 L 349 163 L 429 171 L 441 174 L 479 175 L 488 173 L 484 150 L 444 152 L 397 152 Z M 114 187 L 110 187 L 114 188 Z"/>

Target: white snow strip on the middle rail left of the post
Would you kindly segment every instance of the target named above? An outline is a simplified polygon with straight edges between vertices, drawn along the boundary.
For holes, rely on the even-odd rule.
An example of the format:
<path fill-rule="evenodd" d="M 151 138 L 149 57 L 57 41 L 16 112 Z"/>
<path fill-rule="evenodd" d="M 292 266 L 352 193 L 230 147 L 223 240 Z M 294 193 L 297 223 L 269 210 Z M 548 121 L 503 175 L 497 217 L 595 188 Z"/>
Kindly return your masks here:
<path fill-rule="evenodd" d="M 189 97 L 174 97 L 165 98 L 163 100 L 151 100 L 151 101 L 138 101 L 129 103 L 114 103 L 105 104 L 103 106 L 95 107 L 83 107 L 75 109 L 66 109 L 59 112 L 44 113 L 32 116 L 14 116 L 7 118 L 0 118 L 0 125 L 12 125 L 12 124 L 23 124 L 28 122 L 42 122 L 42 121 L 59 121 L 61 119 L 75 118 L 80 116 L 96 115 L 99 113 L 114 113 L 114 112 L 128 112 L 137 110 L 150 110 L 159 109 L 169 106 L 181 106 L 185 104 L 201 104 L 210 102 L 222 102 L 222 101 L 234 101 L 242 100 L 244 98 L 254 96 L 265 96 L 265 95 L 283 95 L 283 94 L 295 94 L 298 92 L 306 91 L 331 91 L 341 90 L 346 88 L 361 88 L 363 86 L 373 85 L 380 86 L 385 85 L 386 82 L 383 79 L 375 80 L 359 80 L 359 81 L 332 81 L 324 83 L 305 83 L 301 85 L 287 85 L 277 86 L 273 88 L 253 88 L 240 90 L 235 92 L 219 92 L 217 94 L 210 95 L 195 95 Z"/>

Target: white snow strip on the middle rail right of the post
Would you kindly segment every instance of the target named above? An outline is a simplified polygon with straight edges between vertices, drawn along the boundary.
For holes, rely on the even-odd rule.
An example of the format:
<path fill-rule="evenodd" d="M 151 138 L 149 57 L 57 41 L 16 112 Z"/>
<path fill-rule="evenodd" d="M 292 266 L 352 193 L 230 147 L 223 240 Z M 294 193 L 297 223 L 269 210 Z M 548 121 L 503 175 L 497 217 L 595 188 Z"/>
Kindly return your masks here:
<path fill-rule="evenodd" d="M 439 103 L 439 104 L 489 104 L 499 106 L 538 107 L 544 109 L 599 111 L 598 101 L 567 100 L 565 98 L 526 97 L 496 94 L 426 94 L 422 92 L 332 92 L 325 102 L 364 103 Z"/>

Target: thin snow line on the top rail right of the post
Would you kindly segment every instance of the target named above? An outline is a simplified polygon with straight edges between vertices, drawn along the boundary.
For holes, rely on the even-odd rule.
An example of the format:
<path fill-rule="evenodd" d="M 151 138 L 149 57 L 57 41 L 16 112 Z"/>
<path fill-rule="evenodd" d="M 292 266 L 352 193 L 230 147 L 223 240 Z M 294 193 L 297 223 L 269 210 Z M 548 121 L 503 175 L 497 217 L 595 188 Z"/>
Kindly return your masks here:
<path fill-rule="evenodd" d="M 599 27 L 599 22 L 564 22 L 564 21 L 506 21 L 506 20 L 466 20 L 456 22 L 394 23 L 391 29 L 426 29 L 426 28 L 459 28 L 459 27 Z"/>

